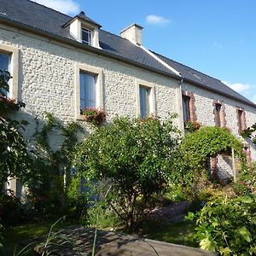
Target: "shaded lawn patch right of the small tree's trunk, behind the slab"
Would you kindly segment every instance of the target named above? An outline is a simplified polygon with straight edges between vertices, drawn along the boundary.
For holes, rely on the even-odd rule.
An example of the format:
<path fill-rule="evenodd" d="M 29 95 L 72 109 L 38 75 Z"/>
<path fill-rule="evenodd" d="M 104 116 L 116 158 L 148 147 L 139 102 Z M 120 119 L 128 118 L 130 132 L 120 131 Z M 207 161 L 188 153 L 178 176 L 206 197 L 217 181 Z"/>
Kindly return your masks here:
<path fill-rule="evenodd" d="M 193 241 L 195 234 L 195 222 L 183 220 L 175 223 L 158 222 L 148 224 L 147 230 L 143 232 L 147 238 L 172 242 L 188 247 L 199 247 L 196 241 Z"/>

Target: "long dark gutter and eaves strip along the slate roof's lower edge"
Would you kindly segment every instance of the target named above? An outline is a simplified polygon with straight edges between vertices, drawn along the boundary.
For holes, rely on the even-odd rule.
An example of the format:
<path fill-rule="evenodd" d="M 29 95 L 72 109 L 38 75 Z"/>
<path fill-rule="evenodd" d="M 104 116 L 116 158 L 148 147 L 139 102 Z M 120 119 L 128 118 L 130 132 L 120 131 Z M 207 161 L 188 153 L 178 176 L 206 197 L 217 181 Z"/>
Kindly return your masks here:
<path fill-rule="evenodd" d="M 19 21 L 11 20 L 11 19 L 9 19 L 7 17 L 4 17 L 2 15 L 0 15 L 0 21 L 2 21 L 3 24 L 9 25 L 9 26 L 14 26 L 14 27 L 17 27 L 17 28 L 21 28 L 21 29 L 24 29 L 27 32 L 32 32 L 32 33 L 38 34 L 40 36 L 44 36 L 46 38 L 55 39 L 56 41 L 59 41 L 59 42 L 64 43 L 64 44 L 70 44 L 70 45 L 73 45 L 74 47 L 77 47 L 79 49 L 84 49 L 84 50 L 92 52 L 96 55 L 102 55 L 102 56 L 105 56 L 105 57 L 108 57 L 108 58 L 111 58 L 111 59 L 114 59 L 114 60 L 117 60 L 117 61 L 125 62 L 126 64 L 130 64 L 130 65 L 135 66 L 135 67 L 141 67 L 144 70 L 154 72 L 154 73 L 163 75 L 163 76 L 168 77 L 168 78 L 177 79 L 177 81 L 179 81 L 179 82 L 183 81 L 183 82 L 188 82 L 189 84 L 194 84 L 195 86 L 201 87 L 204 90 L 209 90 L 209 91 L 212 91 L 212 92 L 217 93 L 217 94 L 222 95 L 222 96 L 227 96 L 228 98 L 234 99 L 238 102 L 242 102 L 244 104 L 247 104 L 248 106 L 256 108 L 256 104 L 254 104 L 253 102 L 250 102 L 249 100 L 245 101 L 241 98 L 237 98 L 236 96 L 230 96 L 229 94 L 224 93 L 220 90 L 215 90 L 213 88 L 209 88 L 205 84 L 197 83 L 193 80 L 185 79 L 183 77 L 179 77 L 179 76 L 175 75 L 174 73 L 173 74 L 172 73 L 167 73 L 165 71 L 162 71 L 160 69 L 156 69 L 154 67 L 148 67 L 147 65 L 144 65 L 144 64 L 139 63 L 137 61 L 131 61 L 130 59 L 127 59 L 123 56 L 114 55 L 112 53 L 109 53 L 109 52 L 105 51 L 104 49 L 97 49 L 97 48 L 92 47 L 90 45 L 82 44 L 80 42 L 74 41 L 73 39 L 61 37 L 59 35 L 56 35 L 55 33 L 44 31 L 44 30 L 42 30 L 38 27 L 29 26 L 29 25 L 26 25 L 26 24 L 21 23 Z"/>

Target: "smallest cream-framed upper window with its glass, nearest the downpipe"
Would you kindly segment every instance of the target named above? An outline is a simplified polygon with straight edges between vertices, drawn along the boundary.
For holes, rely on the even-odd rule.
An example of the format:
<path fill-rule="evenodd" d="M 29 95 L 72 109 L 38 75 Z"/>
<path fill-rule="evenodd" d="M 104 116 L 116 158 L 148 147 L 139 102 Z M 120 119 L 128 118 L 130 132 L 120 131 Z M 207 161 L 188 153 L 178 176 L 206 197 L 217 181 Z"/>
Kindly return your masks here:
<path fill-rule="evenodd" d="M 137 117 L 146 118 L 155 115 L 155 89 L 153 84 L 146 81 L 136 81 Z"/>

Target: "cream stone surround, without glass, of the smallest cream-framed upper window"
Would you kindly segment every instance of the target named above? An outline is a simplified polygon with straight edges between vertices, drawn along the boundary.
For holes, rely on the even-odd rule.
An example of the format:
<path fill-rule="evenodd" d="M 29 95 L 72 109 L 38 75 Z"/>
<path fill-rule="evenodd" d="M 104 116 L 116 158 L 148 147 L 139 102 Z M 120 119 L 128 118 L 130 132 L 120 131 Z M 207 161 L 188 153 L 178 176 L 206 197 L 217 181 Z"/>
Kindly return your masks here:
<path fill-rule="evenodd" d="M 140 86 L 148 88 L 148 114 L 156 115 L 156 104 L 155 104 L 155 86 L 154 84 L 148 83 L 140 79 L 136 79 L 136 98 L 137 98 L 137 111 L 136 116 L 140 118 L 141 115 L 141 102 L 140 102 Z"/>

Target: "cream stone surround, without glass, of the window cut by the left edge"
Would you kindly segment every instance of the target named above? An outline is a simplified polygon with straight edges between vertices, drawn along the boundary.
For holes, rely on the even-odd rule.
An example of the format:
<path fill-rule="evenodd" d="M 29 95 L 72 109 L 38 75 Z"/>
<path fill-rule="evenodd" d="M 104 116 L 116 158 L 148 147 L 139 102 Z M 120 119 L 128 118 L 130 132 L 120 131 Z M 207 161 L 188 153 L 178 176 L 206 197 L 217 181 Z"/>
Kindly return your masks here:
<path fill-rule="evenodd" d="M 13 78 L 9 79 L 9 98 L 18 101 L 19 49 L 11 45 L 0 44 L 0 51 L 10 55 L 9 73 Z"/>

